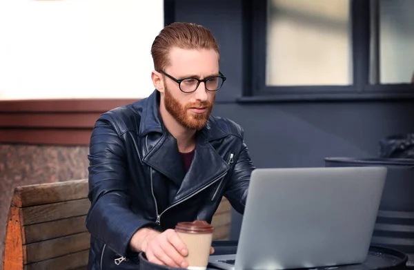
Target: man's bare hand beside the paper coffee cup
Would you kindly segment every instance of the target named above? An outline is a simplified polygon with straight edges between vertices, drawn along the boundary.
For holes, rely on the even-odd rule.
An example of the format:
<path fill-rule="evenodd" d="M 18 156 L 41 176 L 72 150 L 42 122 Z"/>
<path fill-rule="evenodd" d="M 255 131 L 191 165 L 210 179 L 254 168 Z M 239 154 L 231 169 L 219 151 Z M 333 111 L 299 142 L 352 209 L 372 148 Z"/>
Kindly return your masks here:
<path fill-rule="evenodd" d="M 131 247 L 144 251 L 149 262 L 168 267 L 187 268 L 187 247 L 173 229 L 163 233 L 151 229 L 140 229 L 132 236 Z"/>

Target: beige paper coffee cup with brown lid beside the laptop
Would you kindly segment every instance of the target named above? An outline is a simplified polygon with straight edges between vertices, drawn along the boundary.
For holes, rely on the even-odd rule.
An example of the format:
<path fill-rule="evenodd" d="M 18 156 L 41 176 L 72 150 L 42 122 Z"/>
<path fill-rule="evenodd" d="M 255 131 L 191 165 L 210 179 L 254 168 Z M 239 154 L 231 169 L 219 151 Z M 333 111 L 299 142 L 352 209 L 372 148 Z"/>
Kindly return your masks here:
<path fill-rule="evenodd" d="M 204 220 L 195 222 L 179 222 L 175 231 L 186 244 L 188 256 L 187 269 L 205 270 L 210 256 L 210 247 L 213 240 L 214 227 Z"/>

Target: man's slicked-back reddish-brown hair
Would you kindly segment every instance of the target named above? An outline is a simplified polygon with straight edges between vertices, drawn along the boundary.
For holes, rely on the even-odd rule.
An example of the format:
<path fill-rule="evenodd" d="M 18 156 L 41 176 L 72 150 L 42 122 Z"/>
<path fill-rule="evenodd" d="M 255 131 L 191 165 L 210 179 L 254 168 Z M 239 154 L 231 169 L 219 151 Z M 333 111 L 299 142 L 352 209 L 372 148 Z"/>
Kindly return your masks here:
<path fill-rule="evenodd" d="M 219 46 L 210 30 L 195 23 L 175 22 L 162 29 L 152 43 L 151 55 L 155 70 L 162 70 L 170 64 L 168 53 L 173 47 L 188 50 L 213 49 L 220 55 Z"/>

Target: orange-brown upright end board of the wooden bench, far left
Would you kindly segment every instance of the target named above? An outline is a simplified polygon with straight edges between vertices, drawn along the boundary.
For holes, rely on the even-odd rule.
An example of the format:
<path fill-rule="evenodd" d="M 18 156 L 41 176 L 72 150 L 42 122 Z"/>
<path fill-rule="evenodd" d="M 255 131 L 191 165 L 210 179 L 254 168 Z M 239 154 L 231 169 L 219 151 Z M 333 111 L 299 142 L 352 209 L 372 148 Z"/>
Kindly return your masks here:
<path fill-rule="evenodd" d="M 19 209 L 17 207 L 10 207 L 6 229 L 3 270 L 23 269 L 24 259 L 26 258 L 26 246 L 23 246 L 21 238 Z"/>

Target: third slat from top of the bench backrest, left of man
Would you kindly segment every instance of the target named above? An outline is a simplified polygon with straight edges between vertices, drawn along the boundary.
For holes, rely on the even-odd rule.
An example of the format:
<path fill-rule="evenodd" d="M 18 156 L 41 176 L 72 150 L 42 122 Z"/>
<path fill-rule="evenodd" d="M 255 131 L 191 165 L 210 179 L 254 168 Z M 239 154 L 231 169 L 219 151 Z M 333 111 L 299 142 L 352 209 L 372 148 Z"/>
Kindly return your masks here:
<path fill-rule="evenodd" d="M 26 242 L 23 242 L 23 244 L 30 244 L 32 242 L 59 238 L 87 231 L 85 221 L 86 215 L 81 215 L 74 218 L 65 218 L 63 220 L 23 226 L 23 233 L 26 235 Z"/>

